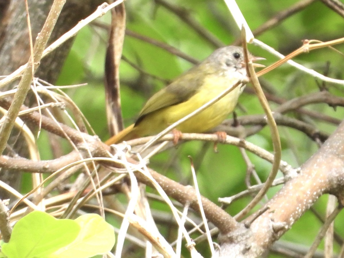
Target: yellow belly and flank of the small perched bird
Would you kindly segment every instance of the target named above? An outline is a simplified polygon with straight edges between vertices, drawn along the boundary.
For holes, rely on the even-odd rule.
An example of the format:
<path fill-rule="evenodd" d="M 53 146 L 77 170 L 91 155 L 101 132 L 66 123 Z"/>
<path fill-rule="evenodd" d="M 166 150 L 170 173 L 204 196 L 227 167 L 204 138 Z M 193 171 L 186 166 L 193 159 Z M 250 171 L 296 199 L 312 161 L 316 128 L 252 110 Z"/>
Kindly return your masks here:
<path fill-rule="evenodd" d="M 218 88 L 214 87 L 214 84 L 212 86 L 213 87 L 209 89 L 202 89 L 183 103 L 166 107 L 148 114 L 147 117 L 139 124 L 140 135 L 158 133 L 164 130 L 166 127 L 172 125 L 172 123 L 189 115 L 209 100 L 217 97 L 226 89 L 223 85 Z M 240 89 L 239 85 L 232 92 L 228 93 L 213 105 L 181 123 L 176 127 L 176 129 L 181 132 L 201 133 L 216 127 L 226 119 L 230 112 L 234 110 L 241 91 L 242 89 Z"/>

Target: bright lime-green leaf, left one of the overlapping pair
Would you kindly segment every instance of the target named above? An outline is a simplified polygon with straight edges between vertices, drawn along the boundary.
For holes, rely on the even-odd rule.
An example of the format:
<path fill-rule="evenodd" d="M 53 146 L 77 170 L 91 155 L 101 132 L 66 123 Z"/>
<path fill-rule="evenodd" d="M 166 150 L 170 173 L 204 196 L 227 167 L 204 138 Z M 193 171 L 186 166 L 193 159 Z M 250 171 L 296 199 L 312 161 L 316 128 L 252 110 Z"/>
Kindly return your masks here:
<path fill-rule="evenodd" d="M 80 226 L 71 219 L 33 211 L 14 225 L 11 239 L 1 251 L 9 258 L 45 257 L 72 243 L 79 231 Z"/>

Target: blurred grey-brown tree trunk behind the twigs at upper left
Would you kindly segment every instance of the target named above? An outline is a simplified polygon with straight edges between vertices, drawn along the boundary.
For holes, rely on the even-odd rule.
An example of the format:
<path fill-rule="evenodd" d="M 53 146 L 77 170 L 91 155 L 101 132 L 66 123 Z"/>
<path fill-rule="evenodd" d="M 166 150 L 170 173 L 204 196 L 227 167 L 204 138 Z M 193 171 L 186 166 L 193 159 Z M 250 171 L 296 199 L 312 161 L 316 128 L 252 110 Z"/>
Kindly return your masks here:
<path fill-rule="evenodd" d="M 42 28 L 52 2 L 52 0 L 29 1 L 33 41 Z M 78 21 L 91 14 L 103 2 L 99 0 L 67 1 L 49 42 L 53 42 L 71 29 Z M 7 7 L 7 9 L 0 7 L 0 75 L 8 75 L 28 62 L 30 56 L 29 34 L 23 1 L 3 2 L 0 0 L 0 6 Z M 54 83 L 71 45 L 72 40 L 69 40 L 49 56 L 43 58 L 35 76 Z M 13 84 L 8 86 L 8 88 L 10 87 L 13 87 Z M 30 102 L 30 99 L 28 99 L 26 104 Z M 18 153 L 21 156 L 26 156 L 26 146 L 23 146 L 21 137 L 18 138 L 18 132 L 13 131 L 13 136 L 10 138 L 8 145 L 13 149 L 13 154 Z M 20 176 L 17 173 L 9 173 L 5 170 L 0 171 L 0 180 L 10 184 L 15 189 L 18 189 L 20 184 Z M 0 190 L 0 198 L 7 197 L 6 192 Z"/>

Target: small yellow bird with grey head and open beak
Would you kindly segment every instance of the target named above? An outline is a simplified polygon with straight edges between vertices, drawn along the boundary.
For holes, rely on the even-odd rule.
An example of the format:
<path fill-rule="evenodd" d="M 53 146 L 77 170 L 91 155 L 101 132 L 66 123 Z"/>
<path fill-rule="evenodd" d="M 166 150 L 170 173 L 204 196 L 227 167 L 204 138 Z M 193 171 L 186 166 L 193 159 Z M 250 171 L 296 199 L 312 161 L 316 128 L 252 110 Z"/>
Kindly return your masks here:
<path fill-rule="evenodd" d="M 265 58 L 249 55 L 249 59 L 254 62 Z M 242 47 L 225 46 L 217 49 L 202 63 L 155 93 L 142 108 L 136 122 L 111 137 L 106 144 L 157 134 L 246 76 Z M 202 133 L 218 126 L 234 110 L 243 89 L 244 85 L 237 86 L 176 129 L 181 132 Z"/>

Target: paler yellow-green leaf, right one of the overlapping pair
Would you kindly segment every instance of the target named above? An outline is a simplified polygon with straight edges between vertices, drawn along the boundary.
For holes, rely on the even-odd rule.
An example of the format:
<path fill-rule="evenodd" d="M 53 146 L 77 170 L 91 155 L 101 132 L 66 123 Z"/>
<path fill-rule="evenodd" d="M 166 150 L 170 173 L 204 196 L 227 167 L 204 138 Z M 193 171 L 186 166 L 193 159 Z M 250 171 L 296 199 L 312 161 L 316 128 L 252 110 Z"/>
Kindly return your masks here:
<path fill-rule="evenodd" d="M 49 258 L 88 258 L 104 254 L 114 246 L 114 228 L 99 215 L 86 214 L 75 219 L 75 222 L 81 227 L 78 237 Z"/>

